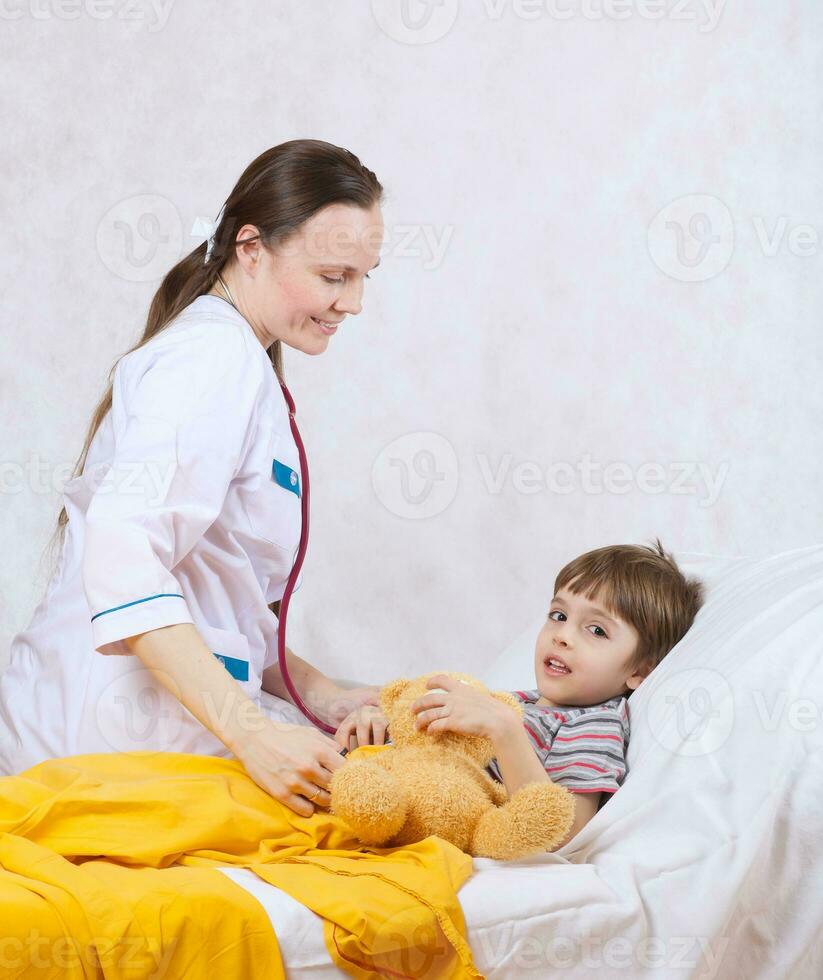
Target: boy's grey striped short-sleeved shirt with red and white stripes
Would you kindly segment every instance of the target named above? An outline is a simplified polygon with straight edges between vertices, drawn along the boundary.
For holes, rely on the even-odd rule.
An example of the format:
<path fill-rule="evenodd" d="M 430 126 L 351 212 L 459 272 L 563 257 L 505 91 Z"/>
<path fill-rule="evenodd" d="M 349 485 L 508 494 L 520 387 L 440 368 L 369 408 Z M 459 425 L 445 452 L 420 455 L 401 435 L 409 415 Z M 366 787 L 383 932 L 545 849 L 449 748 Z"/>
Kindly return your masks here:
<path fill-rule="evenodd" d="M 523 704 L 523 726 L 552 781 L 575 793 L 614 793 L 626 776 L 629 713 L 618 696 L 581 707 L 539 705 L 539 691 L 512 691 Z M 503 777 L 493 759 L 487 768 Z M 601 803 L 605 802 L 605 797 Z"/>

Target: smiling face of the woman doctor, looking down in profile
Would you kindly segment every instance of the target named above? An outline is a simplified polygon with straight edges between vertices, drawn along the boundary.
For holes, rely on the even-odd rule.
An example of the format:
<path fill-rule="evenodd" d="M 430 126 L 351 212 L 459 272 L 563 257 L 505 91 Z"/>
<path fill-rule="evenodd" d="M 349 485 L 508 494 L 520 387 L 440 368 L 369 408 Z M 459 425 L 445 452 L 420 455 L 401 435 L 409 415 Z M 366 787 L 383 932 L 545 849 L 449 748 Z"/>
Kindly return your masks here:
<path fill-rule="evenodd" d="M 264 347 L 280 340 L 322 354 L 345 318 L 363 308 L 383 231 L 378 205 L 330 204 L 271 248 L 259 240 L 241 245 L 223 278 Z M 255 234 L 254 225 L 244 225 L 237 238 Z M 222 293 L 219 282 L 212 291 Z"/>

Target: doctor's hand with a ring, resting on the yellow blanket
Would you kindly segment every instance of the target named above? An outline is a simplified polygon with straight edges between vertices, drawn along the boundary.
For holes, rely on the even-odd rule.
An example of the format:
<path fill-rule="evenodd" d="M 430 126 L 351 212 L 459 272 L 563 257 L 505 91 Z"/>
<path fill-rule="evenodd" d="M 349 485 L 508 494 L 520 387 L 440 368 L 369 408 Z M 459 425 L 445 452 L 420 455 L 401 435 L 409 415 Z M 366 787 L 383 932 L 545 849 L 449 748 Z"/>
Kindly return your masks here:
<path fill-rule="evenodd" d="M 329 805 L 332 773 L 345 765 L 340 747 L 319 729 L 269 719 L 234 754 L 261 789 L 302 817 Z"/>

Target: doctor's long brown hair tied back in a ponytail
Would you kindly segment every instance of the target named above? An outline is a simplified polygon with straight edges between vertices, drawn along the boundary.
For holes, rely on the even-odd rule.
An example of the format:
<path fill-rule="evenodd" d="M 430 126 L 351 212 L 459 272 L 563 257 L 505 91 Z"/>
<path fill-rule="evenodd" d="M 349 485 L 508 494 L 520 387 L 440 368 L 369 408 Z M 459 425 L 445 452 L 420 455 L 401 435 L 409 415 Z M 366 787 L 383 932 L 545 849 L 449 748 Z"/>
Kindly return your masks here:
<path fill-rule="evenodd" d="M 380 203 L 382 195 L 383 187 L 377 177 L 353 153 L 321 140 L 290 140 L 271 147 L 253 160 L 226 199 L 209 261 L 203 262 L 206 255 L 206 242 L 203 242 L 166 273 L 151 302 L 143 336 L 118 357 L 109 372 L 108 389 L 92 416 L 72 478 L 83 472 L 94 434 L 111 408 L 117 363 L 160 333 L 189 303 L 211 289 L 217 273 L 233 257 L 236 231 L 251 224 L 259 229 L 264 245 L 280 244 L 329 204 L 353 204 L 369 209 Z M 272 370 L 282 378 L 279 340 L 268 349 L 268 354 Z M 52 542 L 57 536 L 62 541 L 67 523 L 68 514 L 63 507 Z"/>

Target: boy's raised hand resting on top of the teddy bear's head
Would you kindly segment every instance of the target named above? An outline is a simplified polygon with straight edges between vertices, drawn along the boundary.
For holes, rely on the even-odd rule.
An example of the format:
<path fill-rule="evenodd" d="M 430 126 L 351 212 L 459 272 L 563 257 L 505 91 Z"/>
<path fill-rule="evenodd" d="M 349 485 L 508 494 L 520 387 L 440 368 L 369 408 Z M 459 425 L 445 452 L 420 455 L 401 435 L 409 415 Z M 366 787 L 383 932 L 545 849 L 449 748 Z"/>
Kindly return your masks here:
<path fill-rule="evenodd" d="M 426 687 L 445 688 L 445 693 L 424 694 L 411 706 L 417 728 L 428 733 L 458 732 L 494 739 L 510 720 L 502 712 L 512 712 L 501 701 L 454 677 L 436 674 L 426 681 Z"/>

